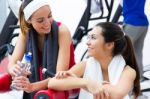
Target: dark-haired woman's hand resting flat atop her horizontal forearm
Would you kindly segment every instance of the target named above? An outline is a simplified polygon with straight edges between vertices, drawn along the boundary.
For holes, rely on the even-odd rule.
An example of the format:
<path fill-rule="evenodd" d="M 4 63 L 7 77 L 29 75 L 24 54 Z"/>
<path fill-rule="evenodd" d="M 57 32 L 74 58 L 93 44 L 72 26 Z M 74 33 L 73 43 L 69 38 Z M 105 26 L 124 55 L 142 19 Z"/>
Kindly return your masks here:
<path fill-rule="evenodd" d="M 67 77 L 69 77 L 69 76 L 77 77 L 75 74 L 70 73 L 69 71 L 59 71 L 59 72 L 55 75 L 55 78 L 56 78 L 56 79 L 63 79 L 63 78 L 67 78 Z"/>

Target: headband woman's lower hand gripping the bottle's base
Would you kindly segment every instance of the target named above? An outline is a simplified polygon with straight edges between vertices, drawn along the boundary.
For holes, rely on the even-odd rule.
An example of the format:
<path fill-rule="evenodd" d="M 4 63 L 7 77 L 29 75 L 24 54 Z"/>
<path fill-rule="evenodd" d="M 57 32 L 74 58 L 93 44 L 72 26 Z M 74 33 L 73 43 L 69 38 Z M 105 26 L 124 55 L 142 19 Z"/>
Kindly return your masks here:
<path fill-rule="evenodd" d="M 15 77 L 12 83 L 18 90 L 24 90 L 28 93 L 33 91 L 32 84 L 30 83 L 29 79 L 25 76 Z"/>

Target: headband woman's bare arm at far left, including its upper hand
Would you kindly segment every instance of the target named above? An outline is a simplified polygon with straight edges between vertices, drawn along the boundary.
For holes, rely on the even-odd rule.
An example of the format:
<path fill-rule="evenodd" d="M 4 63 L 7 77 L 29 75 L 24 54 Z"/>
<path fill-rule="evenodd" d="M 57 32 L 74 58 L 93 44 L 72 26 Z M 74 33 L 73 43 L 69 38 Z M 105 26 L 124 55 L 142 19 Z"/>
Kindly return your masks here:
<path fill-rule="evenodd" d="M 20 71 L 17 61 L 21 61 L 25 52 L 26 36 L 19 34 L 15 49 L 8 64 L 8 72 L 14 77 Z"/>

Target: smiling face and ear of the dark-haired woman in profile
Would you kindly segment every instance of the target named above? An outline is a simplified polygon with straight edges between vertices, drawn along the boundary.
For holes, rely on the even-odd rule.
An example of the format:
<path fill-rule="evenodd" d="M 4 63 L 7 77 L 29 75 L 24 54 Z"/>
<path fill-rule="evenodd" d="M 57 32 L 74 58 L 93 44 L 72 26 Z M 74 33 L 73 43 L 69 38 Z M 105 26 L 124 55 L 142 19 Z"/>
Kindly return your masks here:
<path fill-rule="evenodd" d="M 102 55 L 110 55 L 112 52 L 112 44 L 106 43 L 102 35 L 102 28 L 96 26 L 88 35 L 88 55 L 99 57 Z"/>

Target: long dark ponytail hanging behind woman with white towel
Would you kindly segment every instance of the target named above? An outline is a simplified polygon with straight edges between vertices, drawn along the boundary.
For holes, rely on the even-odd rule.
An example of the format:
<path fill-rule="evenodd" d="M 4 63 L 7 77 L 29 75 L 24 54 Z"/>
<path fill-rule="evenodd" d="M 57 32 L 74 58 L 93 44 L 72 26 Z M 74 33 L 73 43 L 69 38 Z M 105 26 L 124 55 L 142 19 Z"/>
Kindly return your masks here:
<path fill-rule="evenodd" d="M 140 74 L 139 74 L 138 64 L 136 61 L 134 48 L 132 46 L 132 42 L 129 36 L 125 35 L 124 38 L 125 38 L 126 44 L 125 44 L 125 49 L 122 55 L 124 59 L 126 60 L 126 64 L 136 71 L 136 78 L 134 81 L 133 93 L 135 97 L 137 97 L 140 94 Z"/>

